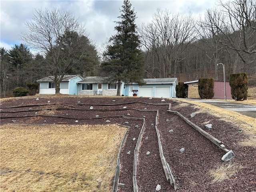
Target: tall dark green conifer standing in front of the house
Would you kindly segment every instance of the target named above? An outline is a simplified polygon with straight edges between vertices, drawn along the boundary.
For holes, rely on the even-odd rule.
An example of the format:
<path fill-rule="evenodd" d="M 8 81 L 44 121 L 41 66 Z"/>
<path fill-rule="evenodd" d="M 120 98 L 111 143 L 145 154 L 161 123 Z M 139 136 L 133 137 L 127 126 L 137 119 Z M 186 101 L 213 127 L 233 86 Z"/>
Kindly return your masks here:
<path fill-rule="evenodd" d="M 140 50 L 140 40 L 135 24 L 136 12 L 129 0 L 124 0 L 121 15 L 115 30 L 117 33 L 109 39 L 110 45 L 104 52 L 101 64 L 102 76 L 108 76 L 110 82 L 117 82 L 117 96 L 120 96 L 121 81 L 143 84 L 144 57 Z"/>

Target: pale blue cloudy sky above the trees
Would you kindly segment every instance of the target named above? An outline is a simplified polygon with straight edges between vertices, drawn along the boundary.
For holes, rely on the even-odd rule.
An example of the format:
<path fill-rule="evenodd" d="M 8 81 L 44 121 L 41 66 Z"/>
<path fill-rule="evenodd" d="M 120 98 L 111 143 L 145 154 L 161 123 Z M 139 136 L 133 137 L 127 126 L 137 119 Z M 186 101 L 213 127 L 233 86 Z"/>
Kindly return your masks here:
<path fill-rule="evenodd" d="M 203 15 L 218 0 L 130 0 L 136 12 L 136 24 L 149 23 L 157 8 L 171 13 Z M 98 49 L 116 34 L 114 27 L 120 16 L 123 0 L 0 0 L 0 47 L 10 50 L 20 45 L 21 32 L 26 32 L 26 22 L 32 20 L 35 10 L 69 11 L 85 25 L 88 37 Z"/>

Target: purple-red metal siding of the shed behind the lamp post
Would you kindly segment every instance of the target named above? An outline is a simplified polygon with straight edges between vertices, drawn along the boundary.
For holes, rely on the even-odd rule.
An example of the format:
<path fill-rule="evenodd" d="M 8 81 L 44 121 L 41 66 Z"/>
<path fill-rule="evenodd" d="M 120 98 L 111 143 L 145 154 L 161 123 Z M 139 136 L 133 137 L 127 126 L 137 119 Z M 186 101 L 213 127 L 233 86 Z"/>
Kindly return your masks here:
<path fill-rule="evenodd" d="M 226 82 L 226 98 L 232 99 L 231 88 L 229 82 Z M 224 96 L 224 82 L 214 81 L 214 96 L 213 99 L 225 99 Z"/>

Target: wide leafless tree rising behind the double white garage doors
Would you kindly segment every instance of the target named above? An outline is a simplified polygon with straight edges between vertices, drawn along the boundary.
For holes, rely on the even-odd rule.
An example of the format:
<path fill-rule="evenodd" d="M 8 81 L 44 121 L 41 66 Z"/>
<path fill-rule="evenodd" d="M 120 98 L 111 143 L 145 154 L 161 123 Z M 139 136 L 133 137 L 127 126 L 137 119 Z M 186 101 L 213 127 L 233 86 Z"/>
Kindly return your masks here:
<path fill-rule="evenodd" d="M 183 53 L 196 37 L 192 15 L 158 9 L 152 22 L 142 24 L 139 32 L 146 52 L 154 57 L 148 69 L 157 70 L 161 78 L 176 77 L 179 64 L 186 58 Z"/>

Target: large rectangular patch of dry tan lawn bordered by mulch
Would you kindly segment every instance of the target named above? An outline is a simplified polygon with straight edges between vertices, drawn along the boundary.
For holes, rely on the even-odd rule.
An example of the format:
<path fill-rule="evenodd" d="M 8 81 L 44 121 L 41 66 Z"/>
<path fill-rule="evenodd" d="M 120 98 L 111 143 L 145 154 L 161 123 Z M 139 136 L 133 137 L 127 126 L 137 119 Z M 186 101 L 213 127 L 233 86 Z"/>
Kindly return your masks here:
<path fill-rule="evenodd" d="M 120 126 L 1 126 L 1 191 L 111 191 Z"/>

